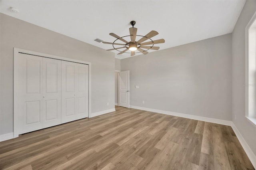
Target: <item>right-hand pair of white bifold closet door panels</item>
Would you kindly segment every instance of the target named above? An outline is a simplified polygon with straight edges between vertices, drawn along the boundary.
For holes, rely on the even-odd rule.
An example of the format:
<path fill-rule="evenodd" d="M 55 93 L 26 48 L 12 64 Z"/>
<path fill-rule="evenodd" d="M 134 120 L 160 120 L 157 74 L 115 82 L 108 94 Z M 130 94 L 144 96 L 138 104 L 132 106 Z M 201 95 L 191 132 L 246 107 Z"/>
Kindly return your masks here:
<path fill-rule="evenodd" d="M 62 61 L 61 123 L 88 117 L 88 65 Z"/>

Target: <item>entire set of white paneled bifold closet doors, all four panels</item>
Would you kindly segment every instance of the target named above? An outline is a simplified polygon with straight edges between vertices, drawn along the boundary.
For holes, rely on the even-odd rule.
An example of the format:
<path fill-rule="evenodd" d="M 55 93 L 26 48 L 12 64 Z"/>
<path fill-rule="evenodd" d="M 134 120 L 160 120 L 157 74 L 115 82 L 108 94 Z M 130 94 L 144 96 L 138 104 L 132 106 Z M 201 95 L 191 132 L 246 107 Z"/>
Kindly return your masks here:
<path fill-rule="evenodd" d="M 19 53 L 18 134 L 88 117 L 88 65 Z"/>

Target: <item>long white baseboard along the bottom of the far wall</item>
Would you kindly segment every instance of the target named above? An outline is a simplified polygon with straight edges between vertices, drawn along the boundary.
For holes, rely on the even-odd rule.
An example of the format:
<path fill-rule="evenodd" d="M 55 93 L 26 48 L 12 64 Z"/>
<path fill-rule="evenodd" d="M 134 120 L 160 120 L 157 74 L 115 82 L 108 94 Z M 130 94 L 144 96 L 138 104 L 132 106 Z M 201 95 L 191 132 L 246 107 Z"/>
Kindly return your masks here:
<path fill-rule="evenodd" d="M 165 114 L 165 115 L 184 117 L 184 118 L 194 119 L 194 120 L 198 120 L 198 121 L 217 123 L 217 124 L 221 124 L 221 125 L 228 125 L 228 126 L 232 125 L 232 121 L 226 121 L 226 120 L 221 120 L 221 119 L 214 119 L 214 118 L 209 118 L 209 117 L 188 115 L 188 114 L 184 114 L 184 113 L 176 113 L 176 112 L 163 111 L 163 110 L 158 110 L 158 109 L 150 109 L 150 108 L 139 107 L 139 106 L 131 106 L 131 108 L 144 110 L 144 111 L 155 112 L 155 113 L 162 113 L 162 114 Z"/>

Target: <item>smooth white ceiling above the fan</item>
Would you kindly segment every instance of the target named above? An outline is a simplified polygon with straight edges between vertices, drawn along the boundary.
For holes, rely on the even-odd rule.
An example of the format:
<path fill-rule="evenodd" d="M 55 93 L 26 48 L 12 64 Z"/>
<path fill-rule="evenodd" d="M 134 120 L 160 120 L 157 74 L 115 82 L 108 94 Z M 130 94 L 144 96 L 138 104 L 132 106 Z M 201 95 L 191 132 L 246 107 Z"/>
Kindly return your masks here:
<path fill-rule="evenodd" d="M 112 45 L 98 43 L 96 38 L 113 42 L 116 39 L 109 35 L 111 32 L 127 36 L 130 21 L 135 20 L 137 35 L 159 32 L 152 40 L 165 39 L 165 43 L 155 45 L 161 50 L 231 33 L 244 3 L 245 0 L 2 0 L 1 12 L 103 49 L 111 49 Z M 13 13 L 10 7 L 20 12 Z M 139 54 L 142 53 L 136 55 Z M 130 54 L 116 56 L 122 59 Z"/>

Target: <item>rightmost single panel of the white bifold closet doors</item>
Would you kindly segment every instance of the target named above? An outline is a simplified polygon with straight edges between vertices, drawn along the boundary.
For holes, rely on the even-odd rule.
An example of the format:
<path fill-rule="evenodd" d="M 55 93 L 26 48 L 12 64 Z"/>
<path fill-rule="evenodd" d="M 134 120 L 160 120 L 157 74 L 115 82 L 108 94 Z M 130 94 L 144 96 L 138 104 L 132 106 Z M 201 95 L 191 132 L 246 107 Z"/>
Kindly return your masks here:
<path fill-rule="evenodd" d="M 76 119 L 88 117 L 88 65 L 76 63 Z"/>

